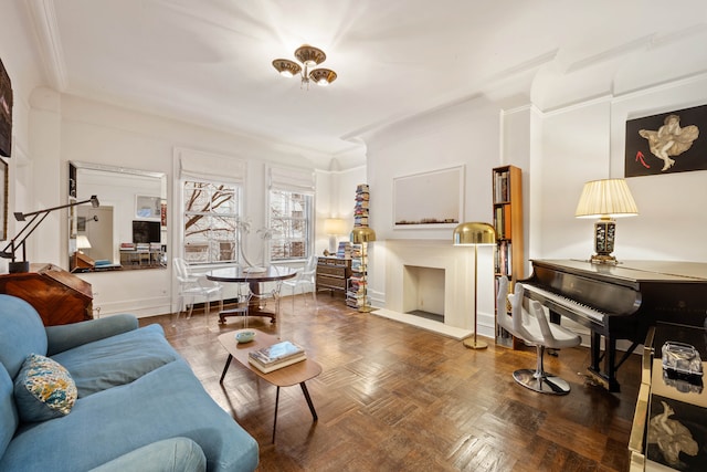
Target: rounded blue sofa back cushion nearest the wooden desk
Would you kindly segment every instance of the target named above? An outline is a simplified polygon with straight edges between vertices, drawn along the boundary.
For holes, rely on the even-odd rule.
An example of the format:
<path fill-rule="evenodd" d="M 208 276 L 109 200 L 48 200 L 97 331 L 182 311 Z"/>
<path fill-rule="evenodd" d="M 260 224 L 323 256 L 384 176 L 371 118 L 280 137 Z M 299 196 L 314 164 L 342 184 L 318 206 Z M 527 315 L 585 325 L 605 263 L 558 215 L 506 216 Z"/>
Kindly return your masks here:
<path fill-rule="evenodd" d="M 27 356 L 46 355 L 46 332 L 36 310 L 22 298 L 0 295 L 0 363 L 17 377 Z"/>

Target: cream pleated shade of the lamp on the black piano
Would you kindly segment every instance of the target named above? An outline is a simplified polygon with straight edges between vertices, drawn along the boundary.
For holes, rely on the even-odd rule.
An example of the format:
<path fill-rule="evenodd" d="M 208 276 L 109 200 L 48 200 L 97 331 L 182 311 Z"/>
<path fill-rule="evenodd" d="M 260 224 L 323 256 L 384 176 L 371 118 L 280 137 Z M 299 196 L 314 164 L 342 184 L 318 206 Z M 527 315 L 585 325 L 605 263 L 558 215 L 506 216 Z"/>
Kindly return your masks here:
<path fill-rule="evenodd" d="M 639 208 L 624 179 L 584 183 L 574 216 L 578 218 L 635 217 Z"/>

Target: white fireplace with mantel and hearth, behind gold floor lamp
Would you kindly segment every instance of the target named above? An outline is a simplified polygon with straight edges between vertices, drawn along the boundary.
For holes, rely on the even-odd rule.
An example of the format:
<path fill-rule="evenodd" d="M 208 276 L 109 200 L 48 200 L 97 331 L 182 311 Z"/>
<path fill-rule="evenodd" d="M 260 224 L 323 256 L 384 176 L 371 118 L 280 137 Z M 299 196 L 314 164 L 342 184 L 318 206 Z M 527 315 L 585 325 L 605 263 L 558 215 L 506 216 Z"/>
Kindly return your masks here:
<path fill-rule="evenodd" d="M 473 248 L 453 247 L 451 239 L 395 239 L 384 241 L 384 255 L 386 307 L 374 314 L 460 339 L 474 333 Z M 479 248 L 478 273 L 478 334 L 493 337 L 493 248 Z M 440 316 L 409 314 L 418 310 Z"/>

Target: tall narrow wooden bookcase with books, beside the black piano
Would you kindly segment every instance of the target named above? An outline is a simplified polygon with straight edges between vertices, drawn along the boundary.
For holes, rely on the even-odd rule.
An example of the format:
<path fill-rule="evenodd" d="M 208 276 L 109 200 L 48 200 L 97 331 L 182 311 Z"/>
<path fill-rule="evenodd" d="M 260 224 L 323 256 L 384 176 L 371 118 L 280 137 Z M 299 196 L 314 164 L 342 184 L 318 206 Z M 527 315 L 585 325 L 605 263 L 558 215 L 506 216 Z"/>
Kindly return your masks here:
<path fill-rule="evenodd" d="M 515 166 L 492 169 L 494 229 L 496 230 L 496 277 L 508 276 L 508 290 L 524 276 L 523 171 Z M 498 290 L 498 284 L 496 284 Z M 495 298 L 497 300 L 497 297 Z M 497 308 L 498 310 L 498 308 Z M 496 325 L 496 340 L 509 344 L 509 335 Z"/>

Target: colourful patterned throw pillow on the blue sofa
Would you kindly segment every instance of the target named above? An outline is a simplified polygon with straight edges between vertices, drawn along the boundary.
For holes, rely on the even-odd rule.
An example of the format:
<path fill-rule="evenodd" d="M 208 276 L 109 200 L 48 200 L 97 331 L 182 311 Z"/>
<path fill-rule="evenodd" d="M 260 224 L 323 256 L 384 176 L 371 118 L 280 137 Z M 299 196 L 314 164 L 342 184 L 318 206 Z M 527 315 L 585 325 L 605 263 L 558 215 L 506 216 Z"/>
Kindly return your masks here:
<path fill-rule="evenodd" d="M 76 397 L 76 384 L 61 364 L 30 354 L 14 379 L 14 402 L 20 419 L 44 421 L 68 415 Z"/>

